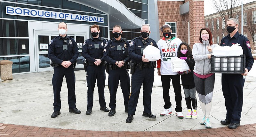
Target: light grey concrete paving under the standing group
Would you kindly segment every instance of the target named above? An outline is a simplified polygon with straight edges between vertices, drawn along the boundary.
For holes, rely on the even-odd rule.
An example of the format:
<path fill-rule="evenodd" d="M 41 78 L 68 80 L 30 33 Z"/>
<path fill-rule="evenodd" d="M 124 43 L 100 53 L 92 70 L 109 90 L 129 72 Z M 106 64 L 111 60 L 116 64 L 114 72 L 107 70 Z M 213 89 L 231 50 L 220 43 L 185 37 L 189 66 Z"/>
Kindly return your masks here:
<path fill-rule="evenodd" d="M 75 71 L 76 74 L 76 107 L 82 111 L 81 114 L 68 112 L 67 84 L 63 81 L 61 91 L 61 114 L 57 118 L 51 118 L 53 112 L 53 71 L 17 74 L 13 80 L 0 83 L 0 123 L 92 130 L 92 131 L 180 131 L 205 129 L 199 122 L 203 118 L 199 100 L 197 100 L 197 119 L 178 119 L 175 112 L 175 96 L 173 88 L 170 88 L 172 115 L 160 117 L 163 111 L 162 87 L 154 87 L 152 91 L 152 112 L 156 119 L 142 116 L 143 97 L 140 92 L 139 102 L 132 123 L 125 123 L 127 113 L 124 112 L 123 94 L 118 88 L 116 96 L 116 114 L 108 117 L 108 112 L 100 111 L 97 86 L 94 91 L 94 105 L 92 115 L 85 115 L 87 107 L 87 87 L 84 70 Z M 241 125 L 256 123 L 256 79 L 246 77 L 244 84 L 244 105 L 241 117 Z M 225 100 L 221 90 L 221 75 L 216 74 L 215 86 L 212 99 L 212 112 L 210 122 L 212 128 L 227 127 L 220 124 L 220 120 L 226 117 Z M 186 115 L 187 107 L 182 90 L 183 115 Z M 105 87 L 105 99 L 109 103 L 108 87 Z M 198 98 L 197 98 L 198 99 Z M 255 124 L 254 124 L 255 125 Z M 1 127 L 0 127 L 1 128 Z"/>

